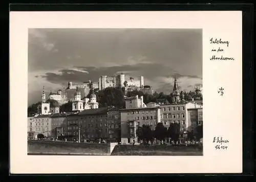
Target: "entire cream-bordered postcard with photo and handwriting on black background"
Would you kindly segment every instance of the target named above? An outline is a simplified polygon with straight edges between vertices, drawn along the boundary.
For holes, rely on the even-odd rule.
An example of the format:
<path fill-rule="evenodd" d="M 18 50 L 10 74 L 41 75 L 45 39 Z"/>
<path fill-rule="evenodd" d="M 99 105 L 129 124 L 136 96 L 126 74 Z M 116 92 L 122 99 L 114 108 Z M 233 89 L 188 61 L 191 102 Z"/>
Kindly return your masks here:
<path fill-rule="evenodd" d="M 10 12 L 10 172 L 241 173 L 242 12 Z"/>

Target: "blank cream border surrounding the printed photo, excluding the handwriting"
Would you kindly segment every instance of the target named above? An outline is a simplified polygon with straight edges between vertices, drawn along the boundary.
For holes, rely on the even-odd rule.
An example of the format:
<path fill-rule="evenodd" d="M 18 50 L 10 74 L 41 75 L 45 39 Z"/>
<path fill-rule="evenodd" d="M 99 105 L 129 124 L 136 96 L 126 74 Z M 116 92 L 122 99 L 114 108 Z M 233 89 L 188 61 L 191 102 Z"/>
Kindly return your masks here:
<path fill-rule="evenodd" d="M 204 156 L 27 155 L 28 28 L 203 29 Z M 230 41 L 236 60 L 209 61 L 210 37 Z M 216 151 L 218 135 L 228 150 Z M 10 12 L 10 145 L 11 173 L 242 172 L 242 12 Z"/>

